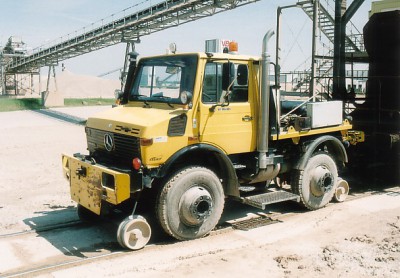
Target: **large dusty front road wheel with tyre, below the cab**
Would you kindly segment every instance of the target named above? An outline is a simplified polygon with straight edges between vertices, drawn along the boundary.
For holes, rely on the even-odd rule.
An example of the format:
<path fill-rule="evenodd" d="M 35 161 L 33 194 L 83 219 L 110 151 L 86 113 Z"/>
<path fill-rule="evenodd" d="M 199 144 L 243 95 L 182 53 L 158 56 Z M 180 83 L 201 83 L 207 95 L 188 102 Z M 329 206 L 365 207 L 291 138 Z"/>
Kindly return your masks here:
<path fill-rule="evenodd" d="M 188 167 L 173 175 L 158 195 L 156 213 L 164 231 L 178 240 L 200 238 L 217 225 L 224 191 L 214 172 Z"/>

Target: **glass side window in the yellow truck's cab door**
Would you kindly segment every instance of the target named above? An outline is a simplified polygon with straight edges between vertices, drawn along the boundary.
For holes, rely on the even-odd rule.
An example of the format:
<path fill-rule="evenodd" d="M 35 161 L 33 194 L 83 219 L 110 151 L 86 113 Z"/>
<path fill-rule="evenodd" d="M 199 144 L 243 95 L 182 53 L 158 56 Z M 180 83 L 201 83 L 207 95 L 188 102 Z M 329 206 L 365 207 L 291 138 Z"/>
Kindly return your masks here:
<path fill-rule="evenodd" d="M 229 71 L 229 78 L 224 78 Z M 226 76 L 225 76 L 226 77 Z M 232 80 L 232 81 L 229 81 Z M 231 84 L 225 84 L 225 83 Z M 230 85 L 230 86 L 229 86 Z M 245 64 L 213 63 L 206 64 L 203 93 L 203 103 L 223 102 L 223 90 L 229 86 L 229 102 L 247 102 L 248 100 L 248 67 Z"/>

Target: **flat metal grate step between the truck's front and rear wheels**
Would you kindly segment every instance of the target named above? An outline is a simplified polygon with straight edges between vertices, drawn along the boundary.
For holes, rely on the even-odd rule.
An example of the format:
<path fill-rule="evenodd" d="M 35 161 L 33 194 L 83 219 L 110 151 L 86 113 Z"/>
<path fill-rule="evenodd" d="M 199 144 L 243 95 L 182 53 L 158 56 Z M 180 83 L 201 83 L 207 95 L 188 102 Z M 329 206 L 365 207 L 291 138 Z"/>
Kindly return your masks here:
<path fill-rule="evenodd" d="M 297 202 L 299 202 L 300 196 L 284 190 L 278 190 L 248 197 L 242 197 L 240 199 L 244 204 L 260 209 L 265 209 L 266 205 L 273 203 L 279 203 L 290 200 L 296 200 Z"/>

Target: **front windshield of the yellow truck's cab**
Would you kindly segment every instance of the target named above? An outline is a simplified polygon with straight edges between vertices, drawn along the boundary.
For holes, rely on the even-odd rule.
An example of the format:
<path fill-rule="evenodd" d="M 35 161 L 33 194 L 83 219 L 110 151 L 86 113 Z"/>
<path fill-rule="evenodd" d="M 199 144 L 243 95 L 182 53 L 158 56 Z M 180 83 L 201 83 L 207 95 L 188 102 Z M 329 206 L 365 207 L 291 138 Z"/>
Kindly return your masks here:
<path fill-rule="evenodd" d="M 181 103 L 180 94 L 193 93 L 196 55 L 173 55 L 139 62 L 129 100 Z"/>

